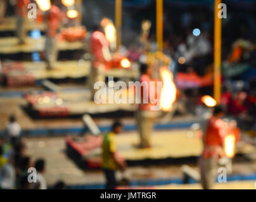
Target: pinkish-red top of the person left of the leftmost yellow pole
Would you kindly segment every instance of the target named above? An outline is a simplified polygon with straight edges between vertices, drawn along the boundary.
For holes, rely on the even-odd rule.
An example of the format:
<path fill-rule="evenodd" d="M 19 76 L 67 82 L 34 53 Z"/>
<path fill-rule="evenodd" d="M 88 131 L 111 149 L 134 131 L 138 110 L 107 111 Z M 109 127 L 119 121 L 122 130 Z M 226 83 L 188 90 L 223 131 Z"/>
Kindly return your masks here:
<path fill-rule="evenodd" d="M 103 47 L 110 47 L 110 44 L 108 40 L 106 40 L 104 33 L 99 31 L 93 32 L 91 35 L 91 51 L 94 55 L 94 68 L 96 68 L 98 64 L 105 62 L 105 58 L 102 52 Z"/>

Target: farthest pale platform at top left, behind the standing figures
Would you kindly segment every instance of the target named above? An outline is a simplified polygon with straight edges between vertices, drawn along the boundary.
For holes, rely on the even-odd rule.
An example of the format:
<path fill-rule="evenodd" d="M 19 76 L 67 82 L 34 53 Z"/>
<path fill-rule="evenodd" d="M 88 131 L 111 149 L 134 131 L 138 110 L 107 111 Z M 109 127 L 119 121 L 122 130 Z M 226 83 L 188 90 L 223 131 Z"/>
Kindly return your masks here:
<path fill-rule="evenodd" d="M 25 23 L 26 30 L 41 30 L 44 31 L 46 29 L 46 25 L 44 23 L 37 23 L 34 19 L 27 19 Z M 4 20 L 3 23 L 0 24 L 0 32 L 13 31 L 16 30 L 16 18 L 9 17 Z"/>

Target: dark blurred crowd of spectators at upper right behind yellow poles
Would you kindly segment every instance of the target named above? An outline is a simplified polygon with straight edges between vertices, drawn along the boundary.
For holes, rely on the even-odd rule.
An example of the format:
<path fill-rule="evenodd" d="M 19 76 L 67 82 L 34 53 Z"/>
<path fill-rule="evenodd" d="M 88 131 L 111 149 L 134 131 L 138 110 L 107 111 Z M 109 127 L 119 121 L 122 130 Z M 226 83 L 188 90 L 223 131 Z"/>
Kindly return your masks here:
<path fill-rule="evenodd" d="M 245 10 L 227 7 L 227 18 L 222 19 L 221 104 L 226 106 L 228 116 L 238 119 L 242 129 L 255 131 L 256 15 L 249 10 L 245 16 Z M 202 95 L 213 95 L 213 13 L 202 8 L 186 9 L 177 16 L 169 13 L 164 16 L 163 52 L 172 59 L 170 69 L 174 76 L 182 73 L 188 75 L 186 78 L 212 80 L 208 86 L 188 85 L 181 90 L 179 100 L 185 103 L 187 112 L 195 113 L 195 105 L 200 104 Z M 131 45 L 130 59 L 140 61 L 144 52 L 157 51 L 155 33 L 151 31 L 144 46 L 142 41 L 139 39 Z"/>

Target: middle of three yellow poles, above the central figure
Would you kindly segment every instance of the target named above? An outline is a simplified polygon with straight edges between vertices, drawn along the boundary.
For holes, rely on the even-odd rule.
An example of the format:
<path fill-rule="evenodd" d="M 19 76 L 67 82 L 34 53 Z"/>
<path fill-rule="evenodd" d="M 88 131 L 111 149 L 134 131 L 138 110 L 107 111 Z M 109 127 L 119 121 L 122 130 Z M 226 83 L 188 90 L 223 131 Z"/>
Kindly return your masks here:
<path fill-rule="evenodd" d="M 157 1 L 157 49 L 163 51 L 163 0 Z"/>

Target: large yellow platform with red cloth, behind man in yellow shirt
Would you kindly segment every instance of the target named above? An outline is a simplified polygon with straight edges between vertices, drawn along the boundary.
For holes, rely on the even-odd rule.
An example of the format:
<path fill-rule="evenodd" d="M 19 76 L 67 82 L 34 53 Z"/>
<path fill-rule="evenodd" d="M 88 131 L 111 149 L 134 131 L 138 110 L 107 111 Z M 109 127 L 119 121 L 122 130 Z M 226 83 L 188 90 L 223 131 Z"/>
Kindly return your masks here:
<path fill-rule="evenodd" d="M 118 152 L 128 165 L 166 165 L 196 163 L 202 154 L 202 140 L 188 130 L 155 131 L 151 137 L 151 148 L 139 149 L 137 133 L 120 134 L 117 137 Z M 99 168 L 101 163 L 101 136 L 87 136 L 85 140 L 67 138 L 67 153 L 82 169 Z M 255 152 L 255 147 L 238 144 L 237 154 Z"/>

